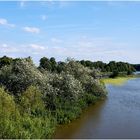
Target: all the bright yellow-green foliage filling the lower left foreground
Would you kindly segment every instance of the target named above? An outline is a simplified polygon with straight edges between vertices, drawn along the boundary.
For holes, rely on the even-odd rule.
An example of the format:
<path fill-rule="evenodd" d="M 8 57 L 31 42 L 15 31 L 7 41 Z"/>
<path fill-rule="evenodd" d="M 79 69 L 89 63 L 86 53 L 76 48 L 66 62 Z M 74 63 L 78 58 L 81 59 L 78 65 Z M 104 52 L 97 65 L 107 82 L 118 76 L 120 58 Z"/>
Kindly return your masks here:
<path fill-rule="evenodd" d="M 34 102 L 31 99 L 31 92 L 36 95 Z M 30 112 L 22 112 L 27 109 L 29 104 L 32 111 L 38 108 L 45 111 L 43 102 L 40 99 L 40 92 L 35 87 L 30 87 L 23 96 L 22 99 L 27 98 L 32 102 L 26 101 L 24 103 L 25 100 L 23 99 L 21 100 L 23 104 L 19 106 L 15 104 L 11 95 L 6 93 L 3 88 L 0 88 L 0 138 L 50 138 L 56 124 L 52 116 L 38 116 L 34 112 L 30 115 Z M 23 107 L 25 108 L 23 109 Z"/>

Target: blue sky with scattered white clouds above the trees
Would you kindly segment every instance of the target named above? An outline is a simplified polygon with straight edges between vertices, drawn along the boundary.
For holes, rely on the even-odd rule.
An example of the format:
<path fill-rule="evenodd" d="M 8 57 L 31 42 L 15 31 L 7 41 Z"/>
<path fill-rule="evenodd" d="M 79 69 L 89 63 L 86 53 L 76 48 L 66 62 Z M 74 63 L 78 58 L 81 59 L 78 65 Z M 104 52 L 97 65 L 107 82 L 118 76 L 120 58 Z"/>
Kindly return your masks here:
<path fill-rule="evenodd" d="M 0 1 L 0 57 L 140 63 L 140 1 Z"/>

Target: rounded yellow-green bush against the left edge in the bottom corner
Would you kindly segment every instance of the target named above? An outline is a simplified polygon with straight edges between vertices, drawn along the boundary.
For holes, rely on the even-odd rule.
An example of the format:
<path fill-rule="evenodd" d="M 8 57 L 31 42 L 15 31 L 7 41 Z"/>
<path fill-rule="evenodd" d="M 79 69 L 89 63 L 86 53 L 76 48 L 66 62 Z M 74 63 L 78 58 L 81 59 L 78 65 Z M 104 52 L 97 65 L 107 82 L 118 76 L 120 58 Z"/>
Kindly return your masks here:
<path fill-rule="evenodd" d="M 0 88 L 0 138 L 16 138 L 19 118 L 14 98 Z"/>

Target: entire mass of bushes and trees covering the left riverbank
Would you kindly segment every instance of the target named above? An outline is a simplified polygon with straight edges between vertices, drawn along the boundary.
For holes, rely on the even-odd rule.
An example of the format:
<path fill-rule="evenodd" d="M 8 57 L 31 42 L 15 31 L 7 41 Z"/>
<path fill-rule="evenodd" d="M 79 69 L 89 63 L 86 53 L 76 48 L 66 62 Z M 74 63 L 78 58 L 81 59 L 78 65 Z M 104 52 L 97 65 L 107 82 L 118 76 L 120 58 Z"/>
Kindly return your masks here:
<path fill-rule="evenodd" d="M 97 100 L 105 98 L 105 77 L 131 75 L 124 62 L 56 62 L 43 57 L 0 58 L 0 138 L 52 138 L 56 126 L 70 123 Z M 124 80 L 120 80 L 124 81 Z"/>

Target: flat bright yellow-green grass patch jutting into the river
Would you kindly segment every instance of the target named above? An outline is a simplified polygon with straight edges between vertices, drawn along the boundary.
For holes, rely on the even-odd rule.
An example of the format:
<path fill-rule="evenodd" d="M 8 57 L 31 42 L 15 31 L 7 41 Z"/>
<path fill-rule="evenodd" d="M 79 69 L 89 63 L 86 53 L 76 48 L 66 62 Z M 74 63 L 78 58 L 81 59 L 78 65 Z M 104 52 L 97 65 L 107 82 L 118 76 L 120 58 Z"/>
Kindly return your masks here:
<path fill-rule="evenodd" d="M 112 84 L 116 86 L 121 86 L 125 84 L 128 80 L 135 78 L 134 76 L 127 76 L 127 77 L 117 77 L 117 78 L 105 78 L 101 79 L 102 82 L 105 84 Z"/>

